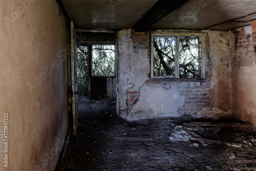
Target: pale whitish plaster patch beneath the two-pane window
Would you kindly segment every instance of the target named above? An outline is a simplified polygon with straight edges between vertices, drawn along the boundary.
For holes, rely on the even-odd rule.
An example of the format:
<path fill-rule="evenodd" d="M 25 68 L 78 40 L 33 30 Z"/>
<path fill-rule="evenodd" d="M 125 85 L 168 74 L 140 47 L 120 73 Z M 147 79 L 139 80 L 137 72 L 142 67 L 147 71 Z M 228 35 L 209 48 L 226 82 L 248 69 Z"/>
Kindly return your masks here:
<path fill-rule="evenodd" d="M 161 100 L 162 99 L 162 100 Z M 137 102 L 131 106 L 127 120 L 141 118 L 155 118 L 172 116 L 177 117 L 177 110 L 182 108 L 185 96 L 181 96 L 177 86 L 158 86 L 145 84 L 140 88 Z"/>

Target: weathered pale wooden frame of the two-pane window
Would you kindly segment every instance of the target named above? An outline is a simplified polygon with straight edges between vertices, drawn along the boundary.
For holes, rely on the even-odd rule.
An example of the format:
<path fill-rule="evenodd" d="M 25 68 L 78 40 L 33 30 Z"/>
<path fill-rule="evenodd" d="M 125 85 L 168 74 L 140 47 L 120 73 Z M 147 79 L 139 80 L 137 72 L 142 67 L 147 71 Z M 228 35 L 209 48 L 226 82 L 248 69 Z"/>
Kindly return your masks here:
<path fill-rule="evenodd" d="M 201 53 L 200 54 L 200 60 L 199 60 L 199 74 L 200 77 L 198 79 L 205 78 L 205 70 L 206 70 L 206 45 L 205 45 L 205 39 L 206 34 L 203 32 L 199 33 L 193 33 L 193 32 L 174 32 L 174 31 L 162 31 L 157 30 L 155 32 L 151 33 L 151 78 L 158 79 L 158 78 L 170 78 L 170 79 L 197 79 L 197 78 L 180 78 L 180 66 L 179 66 L 179 53 L 175 53 L 175 76 L 172 75 L 161 75 L 161 76 L 155 76 L 154 75 L 154 38 L 171 38 L 175 37 L 176 39 L 176 45 L 175 45 L 175 51 L 179 52 L 179 37 L 180 36 L 196 36 L 200 37 L 200 46 L 201 46 Z"/>

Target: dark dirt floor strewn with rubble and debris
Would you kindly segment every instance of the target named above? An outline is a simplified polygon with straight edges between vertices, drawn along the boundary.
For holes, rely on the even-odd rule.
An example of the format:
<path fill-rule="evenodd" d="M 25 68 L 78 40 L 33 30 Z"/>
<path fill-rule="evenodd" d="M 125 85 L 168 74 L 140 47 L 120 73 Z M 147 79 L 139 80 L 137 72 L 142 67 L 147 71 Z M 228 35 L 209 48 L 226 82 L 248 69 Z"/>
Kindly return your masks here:
<path fill-rule="evenodd" d="M 80 96 L 77 135 L 56 170 L 256 171 L 256 128 L 250 124 L 177 118 L 127 122 L 115 113 L 111 101 Z"/>

